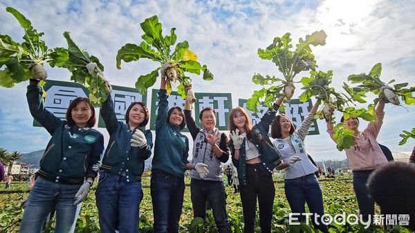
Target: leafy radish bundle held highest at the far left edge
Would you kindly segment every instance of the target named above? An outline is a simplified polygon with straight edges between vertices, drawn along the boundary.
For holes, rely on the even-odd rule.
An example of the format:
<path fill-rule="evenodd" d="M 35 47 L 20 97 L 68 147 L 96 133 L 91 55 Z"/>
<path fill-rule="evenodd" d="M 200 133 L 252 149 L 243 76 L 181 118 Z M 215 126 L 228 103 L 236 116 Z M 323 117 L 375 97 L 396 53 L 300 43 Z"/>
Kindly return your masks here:
<path fill-rule="evenodd" d="M 15 83 L 26 81 L 33 77 L 42 80 L 48 77 L 44 65 L 62 67 L 68 59 L 68 52 L 64 48 L 48 49 L 40 38 L 44 32 L 37 32 L 32 23 L 14 8 L 6 8 L 19 21 L 24 30 L 24 42 L 17 43 L 8 35 L 0 34 L 0 86 L 11 88 Z"/>

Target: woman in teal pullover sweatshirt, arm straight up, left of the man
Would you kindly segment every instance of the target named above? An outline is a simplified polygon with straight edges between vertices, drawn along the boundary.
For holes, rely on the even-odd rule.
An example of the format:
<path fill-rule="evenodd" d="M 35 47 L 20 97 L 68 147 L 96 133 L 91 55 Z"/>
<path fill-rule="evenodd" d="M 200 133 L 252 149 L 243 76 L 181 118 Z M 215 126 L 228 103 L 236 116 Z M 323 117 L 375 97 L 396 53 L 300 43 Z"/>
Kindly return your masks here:
<path fill-rule="evenodd" d="M 201 163 L 187 161 L 189 139 L 181 134 L 185 128 L 185 113 L 180 107 L 168 110 L 166 63 L 162 66 L 158 110 L 156 119 L 156 142 L 151 168 L 151 201 L 153 203 L 154 232 L 178 232 L 178 221 L 183 208 L 185 170 L 196 170 L 206 176 L 208 170 Z"/>

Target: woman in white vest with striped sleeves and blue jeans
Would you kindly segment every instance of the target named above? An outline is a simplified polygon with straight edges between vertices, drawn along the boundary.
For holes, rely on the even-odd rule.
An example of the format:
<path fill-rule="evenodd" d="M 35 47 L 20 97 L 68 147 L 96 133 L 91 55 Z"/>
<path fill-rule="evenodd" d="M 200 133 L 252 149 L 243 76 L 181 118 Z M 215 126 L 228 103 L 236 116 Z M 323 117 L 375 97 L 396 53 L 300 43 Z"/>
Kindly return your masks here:
<path fill-rule="evenodd" d="M 323 196 L 320 184 L 315 177 L 314 172 L 317 168 L 310 159 L 308 159 L 304 148 L 304 139 L 308 134 L 311 123 L 313 123 L 315 112 L 320 105 L 316 101 L 308 113 L 308 116 L 302 122 L 302 125 L 296 131 L 293 121 L 285 114 L 279 114 L 275 117 L 271 126 L 271 137 L 275 139 L 275 148 L 282 155 L 282 161 L 277 166 L 278 170 L 285 168 L 284 172 L 284 190 L 286 198 L 291 207 L 291 212 L 300 220 L 304 220 L 305 203 L 313 214 L 324 214 Z M 312 216 L 313 225 L 322 232 L 328 232 L 327 226 L 322 224 L 321 219 Z"/>

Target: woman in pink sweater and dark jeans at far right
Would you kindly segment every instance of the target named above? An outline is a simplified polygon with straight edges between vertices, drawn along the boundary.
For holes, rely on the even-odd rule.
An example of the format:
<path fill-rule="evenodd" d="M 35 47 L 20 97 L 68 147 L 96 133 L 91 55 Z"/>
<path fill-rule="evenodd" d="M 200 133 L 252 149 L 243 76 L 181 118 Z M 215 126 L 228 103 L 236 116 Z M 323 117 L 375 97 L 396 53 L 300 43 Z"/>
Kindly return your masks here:
<path fill-rule="evenodd" d="M 378 168 L 383 163 L 387 163 L 387 159 L 382 152 L 379 144 L 376 142 L 380 127 L 383 123 L 383 117 L 385 112 L 385 99 L 379 98 L 378 106 L 376 107 L 376 121 L 371 121 L 367 125 L 367 128 L 362 132 L 359 131 L 359 119 L 356 117 L 349 117 L 341 121 L 344 123 L 344 128 L 353 130 L 354 145 L 346 150 L 346 156 L 349 160 L 351 170 L 353 171 L 353 189 L 356 193 L 356 199 L 358 199 L 360 214 L 365 219 L 369 219 L 374 215 L 375 203 L 369 196 L 367 190 L 367 179 L 371 172 Z M 327 121 L 327 132 L 329 132 L 333 139 L 333 125 L 331 121 Z M 336 141 L 333 139 L 333 141 Z"/>

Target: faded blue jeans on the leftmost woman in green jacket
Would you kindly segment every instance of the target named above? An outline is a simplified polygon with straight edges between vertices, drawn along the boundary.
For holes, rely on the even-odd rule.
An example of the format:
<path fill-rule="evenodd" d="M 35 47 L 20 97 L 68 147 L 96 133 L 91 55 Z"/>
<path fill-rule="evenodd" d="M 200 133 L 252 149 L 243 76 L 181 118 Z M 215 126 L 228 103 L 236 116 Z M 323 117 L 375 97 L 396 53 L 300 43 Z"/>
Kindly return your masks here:
<path fill-rule="evenodd" d="M 73 232 L 81 207 L 73 202 L 81 185 L 54 183 L 37 177 L 24 210 L 20 232 L 41 232 L 53 207 L 56 211 L 55 232 Z"/>

